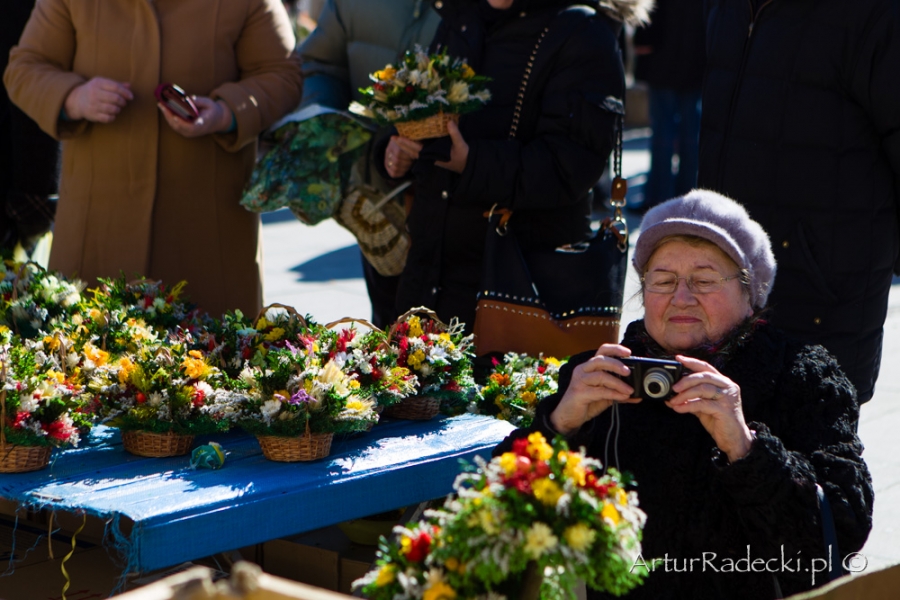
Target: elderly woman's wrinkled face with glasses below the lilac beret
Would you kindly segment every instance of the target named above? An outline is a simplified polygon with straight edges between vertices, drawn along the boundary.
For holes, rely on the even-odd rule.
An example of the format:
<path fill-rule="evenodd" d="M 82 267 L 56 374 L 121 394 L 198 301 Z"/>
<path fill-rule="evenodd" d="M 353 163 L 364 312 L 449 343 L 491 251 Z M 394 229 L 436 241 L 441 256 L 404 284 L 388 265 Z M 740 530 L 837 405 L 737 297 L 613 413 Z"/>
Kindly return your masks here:
<path fill-rule="evenodd" d="M 714 244 L 694 246 L 673 240 L 656 249 L 647 261 L 644 275 L 660 272 L 712 280 L 731 277 L 739 271 L 734 261 Z M 718 342 L 753 313 L 737 278 L 708 294 L 692 292 L 681 279 L 674 293 L 658 294 L 645 289 L 643 298 L 647 333 L 672 353 Z"/>

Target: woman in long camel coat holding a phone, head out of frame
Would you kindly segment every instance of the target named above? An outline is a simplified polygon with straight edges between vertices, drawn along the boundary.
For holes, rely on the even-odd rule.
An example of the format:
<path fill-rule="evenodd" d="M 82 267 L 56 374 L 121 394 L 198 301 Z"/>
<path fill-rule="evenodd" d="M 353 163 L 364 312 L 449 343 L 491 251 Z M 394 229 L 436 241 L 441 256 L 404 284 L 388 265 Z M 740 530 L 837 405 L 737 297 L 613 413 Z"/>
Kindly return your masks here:
<path fill-rule="evenodd" d="M 63 140 L 50 268 L 146 275 L 219 316 L 262 301 L 259 218 L 238 205 L 261 131 L 300 101 L 280 0 L 38 0 L 4 83 Z M 180 121 L 154 90 L 196 95 Z"/>

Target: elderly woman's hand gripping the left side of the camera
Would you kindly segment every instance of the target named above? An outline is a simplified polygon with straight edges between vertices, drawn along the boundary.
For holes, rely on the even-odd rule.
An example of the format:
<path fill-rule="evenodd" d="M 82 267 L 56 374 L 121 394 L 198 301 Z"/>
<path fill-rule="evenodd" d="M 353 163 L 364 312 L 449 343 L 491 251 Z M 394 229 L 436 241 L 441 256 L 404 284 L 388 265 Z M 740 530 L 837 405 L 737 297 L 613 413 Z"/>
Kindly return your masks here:
<path fill-rule="evenodd" d="M 632 397 L 634 388 L 616 376 L 631 372 L 616 360 L 626 356 L 631 356 L 631 350 L 625 346 L 603 344 L 589 361 L 575 367 L 569 387 L 550 415 L 556 431 L 571 435 L 614 402 L 637 404 L 641 401 Z"/>

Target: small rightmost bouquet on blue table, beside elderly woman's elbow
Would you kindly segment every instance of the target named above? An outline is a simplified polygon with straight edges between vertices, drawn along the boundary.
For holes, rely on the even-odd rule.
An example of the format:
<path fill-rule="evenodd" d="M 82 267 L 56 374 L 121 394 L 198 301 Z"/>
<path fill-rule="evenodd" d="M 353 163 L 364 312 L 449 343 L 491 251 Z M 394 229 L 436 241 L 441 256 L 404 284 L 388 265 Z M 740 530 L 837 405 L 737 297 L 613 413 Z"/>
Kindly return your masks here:
<path fill-rule="evenodd" d="M 556 393 L 559 367 L 553 357 L 534 357 L 510 352 L 493 359 L 494 370 L 479 391 L 477 412 L 528 427 L 537 403 Z"/>

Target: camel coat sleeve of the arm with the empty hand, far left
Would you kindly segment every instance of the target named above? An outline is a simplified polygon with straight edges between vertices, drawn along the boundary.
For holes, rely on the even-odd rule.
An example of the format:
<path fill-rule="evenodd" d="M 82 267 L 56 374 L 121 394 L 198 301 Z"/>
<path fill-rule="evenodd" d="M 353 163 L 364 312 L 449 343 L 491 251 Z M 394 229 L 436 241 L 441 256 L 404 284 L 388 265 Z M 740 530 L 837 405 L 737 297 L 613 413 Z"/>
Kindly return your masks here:
<path fill-rule="evenodd" d="M 75 29 L 67 0 L 38 0 L 3 75 L 10 100 L 41 129 L 60 139 L 87 129 L 87 121 L 62 121 L 73 88 L 85 82 L 73 73 Z"/>

